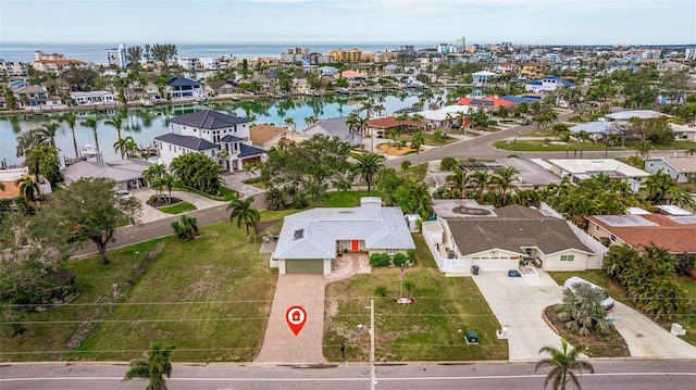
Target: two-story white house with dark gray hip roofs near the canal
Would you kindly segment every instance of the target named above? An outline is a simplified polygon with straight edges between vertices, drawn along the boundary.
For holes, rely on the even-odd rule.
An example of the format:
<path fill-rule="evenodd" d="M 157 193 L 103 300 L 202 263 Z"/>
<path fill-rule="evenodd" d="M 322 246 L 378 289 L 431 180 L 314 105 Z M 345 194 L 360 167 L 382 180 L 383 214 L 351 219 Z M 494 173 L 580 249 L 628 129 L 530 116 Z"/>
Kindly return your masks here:
<path fill-rule="evenodd" d="M 156 137 L 160 158 L 165 165 L 187 153 L 203 153 L 217 161 L 225 151 L 227 158 L 220 161 L 227 171 L 240 171 L 245 164 L 265 160 L 265 151 L 251 144 L 246 117 L 203 110 L 170 119 L 170 133 Z"/>

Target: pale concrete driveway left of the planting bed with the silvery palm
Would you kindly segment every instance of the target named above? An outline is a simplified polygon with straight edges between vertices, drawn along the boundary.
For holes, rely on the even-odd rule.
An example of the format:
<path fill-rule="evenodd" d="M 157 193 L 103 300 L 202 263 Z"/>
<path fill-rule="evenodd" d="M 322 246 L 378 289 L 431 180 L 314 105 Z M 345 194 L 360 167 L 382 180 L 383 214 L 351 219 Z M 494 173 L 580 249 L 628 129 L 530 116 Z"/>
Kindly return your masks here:
<path fill-rule="evenodd" d="M 508 327 L 510 361 L 538 360 L 542 347 L 560 348 L 560 337 L 546 325 L 542 312 L 561 301 L 562 287 L 539 273 L 521 278 L 510 278 L 504 272 L 473 276 L 493 314 Z"/>

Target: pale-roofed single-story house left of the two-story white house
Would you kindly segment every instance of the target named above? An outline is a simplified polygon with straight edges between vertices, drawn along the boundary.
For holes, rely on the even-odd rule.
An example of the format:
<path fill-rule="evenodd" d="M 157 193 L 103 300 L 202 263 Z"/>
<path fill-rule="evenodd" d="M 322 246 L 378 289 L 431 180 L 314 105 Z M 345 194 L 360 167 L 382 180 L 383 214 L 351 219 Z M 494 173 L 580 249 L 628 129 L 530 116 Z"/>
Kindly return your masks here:
<path fill-rule="evenodd" d="M 115 160 L 103 164 L 80 161 L 61 169 L 61 173 L 67 186 L 83 177 L 105 177 L 116 181 L 116 186 L 121 189 L 127 190 L 129 188 L 140 188 L 145 185 L 142 172 L 150 166 L 152 166 L 152 163 L 139 159 Z"/>

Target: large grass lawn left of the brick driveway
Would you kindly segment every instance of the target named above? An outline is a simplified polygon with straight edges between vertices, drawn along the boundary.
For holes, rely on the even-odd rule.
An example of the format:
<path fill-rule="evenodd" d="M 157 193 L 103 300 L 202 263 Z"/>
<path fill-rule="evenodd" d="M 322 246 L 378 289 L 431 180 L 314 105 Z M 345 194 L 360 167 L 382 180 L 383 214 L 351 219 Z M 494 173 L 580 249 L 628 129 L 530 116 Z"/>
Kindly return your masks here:
<path fill-rule="evenodd" d="M 108 266 L 96 256 L 71 261 L 80 295 L 32 314 L 23 337 L 0 343 L 0 358 L 128 361 L 157 340 L 176 347 L 174 361 L 252 361 L 277 276 L 240 229 L 221 223 L 200 230 L 189 242 L 167 237 L 111 251 Z M 161 254 L 138 271 L 157 242 Z"/>

